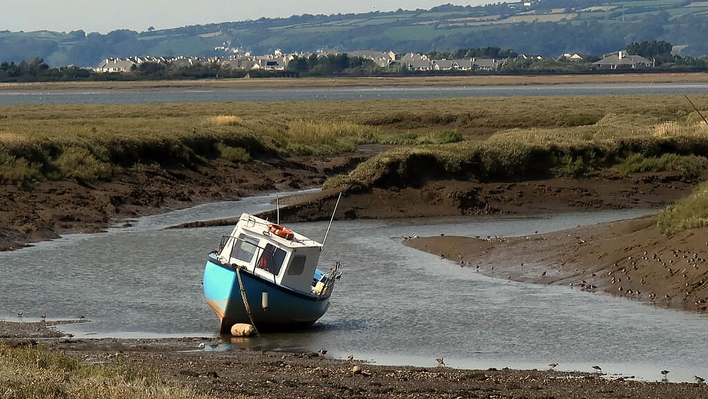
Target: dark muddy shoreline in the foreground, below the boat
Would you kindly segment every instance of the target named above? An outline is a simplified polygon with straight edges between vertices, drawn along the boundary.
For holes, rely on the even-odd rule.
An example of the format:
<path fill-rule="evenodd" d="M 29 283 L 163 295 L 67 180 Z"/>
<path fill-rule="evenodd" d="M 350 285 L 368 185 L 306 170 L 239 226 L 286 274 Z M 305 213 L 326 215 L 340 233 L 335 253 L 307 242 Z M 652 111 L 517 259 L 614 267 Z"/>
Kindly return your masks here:
<path fill-rule="evenodd" d="M 44 330 L 47 324 L 0 322 L 0 341 L 13 347 L 41 344 L 89 364 L 127 360 L 212 398 L 708 397 L 704 383 L 636 381 L 632 376 L 550 368 L 379 366 L 357 359 L 331 359 L 315 352 L 251 351 L 242 338 L 72 339 L 53 337 L 55 334 Z M 37 329 L 44 332 L 38 335 Z M 229 350 L 225 350 L 227 345 Z M 435 359 L 431 363 L 435 364 Z"/>

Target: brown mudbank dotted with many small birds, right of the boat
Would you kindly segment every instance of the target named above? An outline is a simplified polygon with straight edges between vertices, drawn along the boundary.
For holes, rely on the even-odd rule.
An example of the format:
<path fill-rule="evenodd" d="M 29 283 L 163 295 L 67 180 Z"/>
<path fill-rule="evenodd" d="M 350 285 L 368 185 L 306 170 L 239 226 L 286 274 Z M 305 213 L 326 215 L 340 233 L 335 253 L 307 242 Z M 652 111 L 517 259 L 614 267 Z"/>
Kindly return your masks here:
<path fill-rule="evenodd" d="M 500 279 L 560 284 L 685 310 L 707 310 L 708 228 L 667 238 L 653 216 L 525 237 L 406 242 Z"/>

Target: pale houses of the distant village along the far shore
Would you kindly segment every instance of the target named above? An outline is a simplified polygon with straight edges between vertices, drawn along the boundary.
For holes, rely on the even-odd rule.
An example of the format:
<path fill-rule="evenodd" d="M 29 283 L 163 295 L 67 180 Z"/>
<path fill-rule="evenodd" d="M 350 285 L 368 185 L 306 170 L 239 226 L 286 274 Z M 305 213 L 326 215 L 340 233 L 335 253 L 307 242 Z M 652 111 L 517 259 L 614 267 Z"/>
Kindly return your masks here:
<path fill-rule="evenodd" d="M 217 50 L 225 50 L 217 47 Z M 318 57 L 326 57 L 328 55 L 338 55 L 343 52 L 327 52 L 319 51 L 315 54 Z M 465 58 L 460 60 L 430 60 L 426 55 L 409 52 L 396 59 L 394 52 L 378 52 L 378 51 L 347 51 L 350 57 L 362 57 L 367 60 L 372 60 L 379 67 L 387 68 L 392 64 L 400 64 L 401 67 L 409 71 L 493 71 L 498 69 L 501 60 L 493 58 Z M 310 57 L 309 53 L 292 53 L 283 54 L 280 50 L 275 50 L 270 55 L 251 55 L 249 52 L 244 54 L 231 54 L 225 57 L 128 57 L 128 58 L 108 58 L 103 60 L 94 70 L 96 72 L 130 72 L 139 67 L 143 62 L 158 62 L 170 64 L 173 69 L 181 69 L 193 67 L 199 64 L 218 63 L 224 67 L 232 69 L 253 70 L 261 69 L 264 71 L 285 71 L 288 62 L 295 57 Z M 525 55 L 520 57 L 528 58 Z M 583 57 L 577 54 L 565 54 L 569 60 L 583 60 Z M 541 59 L 542 57 L 534 56 Z M 627 55 L 622 51 L 614 52 L 603 57 L 602 60 L 593 62 L 600 68 L 616 69 L 617 67 L 653 67 L 653 60 L 647 60 L 639 55 Z"/>

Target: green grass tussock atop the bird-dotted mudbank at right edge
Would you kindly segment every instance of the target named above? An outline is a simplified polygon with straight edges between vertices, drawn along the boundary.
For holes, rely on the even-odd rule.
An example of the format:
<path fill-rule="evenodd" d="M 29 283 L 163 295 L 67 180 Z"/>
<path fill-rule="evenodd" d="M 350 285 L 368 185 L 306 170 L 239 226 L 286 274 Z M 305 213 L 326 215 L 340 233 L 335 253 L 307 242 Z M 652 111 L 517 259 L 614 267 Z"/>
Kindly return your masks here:
<path fill-rule="evenodd" d="M 686 198 L 661 210 L 656 227 L 666 236 L 683 230 L 708 226 L 708 181 L 699 184 Z"/>

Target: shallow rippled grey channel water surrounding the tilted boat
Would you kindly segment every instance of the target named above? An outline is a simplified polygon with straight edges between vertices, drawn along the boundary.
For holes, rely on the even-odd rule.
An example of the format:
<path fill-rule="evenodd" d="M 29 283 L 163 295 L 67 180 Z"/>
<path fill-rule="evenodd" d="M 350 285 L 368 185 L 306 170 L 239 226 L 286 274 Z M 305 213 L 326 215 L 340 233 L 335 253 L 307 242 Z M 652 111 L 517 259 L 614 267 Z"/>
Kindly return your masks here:
<path fill-rule="evenodd" d="M 140 218 L 130 228 L 69 235 L 0 253 L 0 318 L 76 319 L 80 337 L 214 337 L 218 319 L 203 298 L 205 257 L 231 227 L 164 230 L 193 220 L 272 208 L 273 196 Z M 526 235 L 633 218 L 643 210 L 534 217 L 336 222 L 321 257 L 342 263 L 328 313 L 312 329 L 224 342 L 217 349 L 316 351 L 377 364 L 537 368 L 622 373 L 670 381 L 708 377 L 708 316 L 586 293 L 515 283 L 405 247 L 406 235 Z M 322 240 L 327 223 L 287 223 Z M 195 344 L 196 347 L 196 344 Z M 207 347 L 208 349 L 208 347 Z"/>

